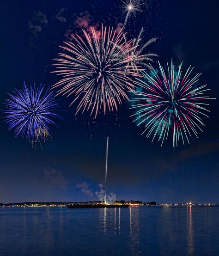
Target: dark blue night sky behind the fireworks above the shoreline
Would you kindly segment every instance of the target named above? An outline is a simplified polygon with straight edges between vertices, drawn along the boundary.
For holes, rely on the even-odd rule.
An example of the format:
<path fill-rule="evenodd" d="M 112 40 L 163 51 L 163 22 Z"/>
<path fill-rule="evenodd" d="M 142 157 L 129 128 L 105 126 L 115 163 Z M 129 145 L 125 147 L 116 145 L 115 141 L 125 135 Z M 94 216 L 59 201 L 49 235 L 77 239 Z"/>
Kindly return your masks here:
<path fill-rule="evenodd" d="M 80 21 L 113 26 L 124 22 L 120 0 L 33 0 L 1 3 L 0 104 L 13 88 L 58 81 L 51 66 L 58 45 L 71 33 L 81 33 Z M 143 40 L 158 37 L 149 49 L 161 63 L 174 59 L 202 72 L 200 84 L 219 99 L 219 21 L 217 0 L 154 0 L 128 23 L 130 36 L 141 27 Z M 86 23 L 86 22 L 85 22 Z M 157 66 L 157 60 L 154 66 Z M 110 136 L 108 193 L 118 200 L 219 202 L 219 108 L 210 102 L 206 127 L 190 145 L 172 147 L 171 137 L 160 147 L 141 136 L 129 117 L 127 103 L 118 112 L 74 116 L 72 98 L 60 98 L 67 111 L 52 128 L 52 140 L 36 151 L 15 138 L 0 123 L 0 202 L 97 200 L 104 183 L 105 137 Z M 3 114 L 1 113 L 1 116 Z M 83 191 L 82 191 L 83 190 Z"/>

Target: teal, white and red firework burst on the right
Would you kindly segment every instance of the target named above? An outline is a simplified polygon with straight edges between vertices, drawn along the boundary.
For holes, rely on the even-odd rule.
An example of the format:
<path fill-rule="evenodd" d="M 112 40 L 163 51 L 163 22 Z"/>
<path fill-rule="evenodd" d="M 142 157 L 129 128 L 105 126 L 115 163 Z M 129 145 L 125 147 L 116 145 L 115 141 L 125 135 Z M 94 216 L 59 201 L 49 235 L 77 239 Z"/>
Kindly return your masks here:
<path fill-rule="evenodd" d="M 134 91 L 134 104 L 131 107 L 135 110 L 134 122 L 145 125 L 142 134 L 146 134 L 146 138 L 152 136 L 153 141 L 158 135 L 161 146 L 170 133 L 174 147 L 181 139 L 183 145 L 185 140 L 189 143 L 189 137 L 192 134 L 197 137 L 197 130 L 204 125 L 200 116 L 207 116 L 204 112 L 209 112 L 205 108 L 209 104 L 203 101 L 212 99 L 205 96 L 205 92 L 211 89 L 206 89 L 206 85 L 198 86 L 201 73 L 189 79 L 193 70 L 191 66 L 183 76 L 182 63 L 178 70 L 172 61 L 170 67 L 167 63 L 166 73 L 159 63 L 160 73 L 151 67 L 150 74 L 143 72 L 145 81 L 137 79 L 136 82 L 139 90 Z"/>

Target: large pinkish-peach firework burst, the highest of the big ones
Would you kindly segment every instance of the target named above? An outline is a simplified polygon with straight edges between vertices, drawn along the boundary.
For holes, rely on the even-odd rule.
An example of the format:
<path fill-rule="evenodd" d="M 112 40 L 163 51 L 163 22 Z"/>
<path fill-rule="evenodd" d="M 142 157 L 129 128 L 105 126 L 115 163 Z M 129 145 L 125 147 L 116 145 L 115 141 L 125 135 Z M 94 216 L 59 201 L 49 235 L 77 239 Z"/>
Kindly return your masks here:
<path fill-rule="evenodd" d="M 91 31 L 89 35 L 83 30 L 85 39 L 76 35 L 74 43 L 67 42 L 61 47 L 67 53 L 60 53 L 61 58 L 55 59 L 59 63 L 55 64 L 57 70 L 53 73 L 63 78 L 53 88 L 61 86 L 58 94 L 73 94 L 72 104 L 79 99 L 76 114 L 90 109 L 96 117 L 100 110 L 104 113 L 107 109 L 117 110 L 122 99 L 128 99 L 126 91 L 135 88 L 131 77 L 140 75 L 128 64 L 134 47 L 128 47 L 132 40 L 125 42 L 122 31 L 116 34 L 103 26 L 100 33 L 94 28 Z"/>

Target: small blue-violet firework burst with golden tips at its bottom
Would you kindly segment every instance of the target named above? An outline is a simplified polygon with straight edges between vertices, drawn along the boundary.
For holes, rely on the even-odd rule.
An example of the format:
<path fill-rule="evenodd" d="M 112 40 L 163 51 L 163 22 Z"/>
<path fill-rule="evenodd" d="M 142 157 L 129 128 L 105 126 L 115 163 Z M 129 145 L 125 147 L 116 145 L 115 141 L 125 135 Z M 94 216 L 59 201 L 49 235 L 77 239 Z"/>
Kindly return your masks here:
<path fill-rule="evenodd" d="M 15 136 L 21 136 L 36 145 L 36 142 L 48 140 L 51 137 L 50 125 L 55 125 L 55 113 L 58 107 L 55 92 L 44 93 L 44 86 L 30 86 L 24 83 L 22 90 L 15 89 L 10 99 L 6 99 L 5 122 L 8 130 L 14 130 Z"/>

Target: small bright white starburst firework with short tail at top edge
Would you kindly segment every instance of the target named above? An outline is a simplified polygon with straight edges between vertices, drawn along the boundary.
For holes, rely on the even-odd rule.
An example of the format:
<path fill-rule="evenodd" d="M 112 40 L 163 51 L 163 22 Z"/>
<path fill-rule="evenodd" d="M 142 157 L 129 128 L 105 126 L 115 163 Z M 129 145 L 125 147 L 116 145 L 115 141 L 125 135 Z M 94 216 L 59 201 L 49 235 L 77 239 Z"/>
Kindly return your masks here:
<path fill-rule="evenodd" d="M 123 25 L 123 29 L 124 29 L 128 22 L 129 16 L 133 14 L 134 17 L 136 17 L 136 12 L 142 12 L 142 10 L 140 9 L 140 6 L 143 5 L 144 3 L 140 3 L 140 0 L 121 0 L 121 1 L 123 3 L 123 6 L 121 6 L 124 9 L 123 12 L 127 12 L 125 22 Z"/>

